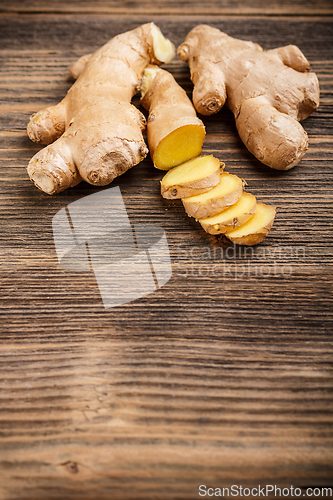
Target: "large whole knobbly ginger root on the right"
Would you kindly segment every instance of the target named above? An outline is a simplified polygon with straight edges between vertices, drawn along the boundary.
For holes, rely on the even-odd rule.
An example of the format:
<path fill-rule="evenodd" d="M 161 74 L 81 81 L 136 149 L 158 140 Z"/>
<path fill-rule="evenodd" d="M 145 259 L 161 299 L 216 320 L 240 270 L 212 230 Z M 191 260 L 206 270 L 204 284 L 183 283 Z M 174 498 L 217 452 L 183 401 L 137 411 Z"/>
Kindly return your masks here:
<path fill-rule="evenodd" d="M 256 43 L 199 25 L 178 55 L 189 64 L 199 113 L 216 113 L 226 102 L 242 141 L 258 160 L 277 170 L 299 163 L 308 147 L 299 121 L 319 105 L 318 79 L 300 49 L 263 51 Z"/>

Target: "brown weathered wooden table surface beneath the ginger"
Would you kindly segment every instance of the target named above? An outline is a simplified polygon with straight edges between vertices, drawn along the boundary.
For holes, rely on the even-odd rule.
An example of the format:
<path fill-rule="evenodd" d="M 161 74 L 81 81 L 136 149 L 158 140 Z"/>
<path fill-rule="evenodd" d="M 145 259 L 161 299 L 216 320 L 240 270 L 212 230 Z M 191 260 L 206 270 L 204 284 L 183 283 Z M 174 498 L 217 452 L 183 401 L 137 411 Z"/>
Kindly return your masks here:
<path fill-rule="evenodd" d="M 332 486 L 332 2 L 2 0 L 0 12 L 0 499 Z M 116 179 L 131 222 L 164 229 L 173 273 L 105 309 L 93 273 L 60 267 L 52 233 L 61 208 L 98 189 L 37 190 L 26 166 L 40 147 L 26 125 L 64 97 L 79 56 L 150 21 L 176 45 L 200 23 L 264 49 L 298 45 L 320 107 L 288 172 L 246 150 L 229 110 L 204 118 L 204 152 L 277 206 L 252 253 L 162 199 L 149 157 Z M 187 66 L 166 68 L 191 96 Z"/>

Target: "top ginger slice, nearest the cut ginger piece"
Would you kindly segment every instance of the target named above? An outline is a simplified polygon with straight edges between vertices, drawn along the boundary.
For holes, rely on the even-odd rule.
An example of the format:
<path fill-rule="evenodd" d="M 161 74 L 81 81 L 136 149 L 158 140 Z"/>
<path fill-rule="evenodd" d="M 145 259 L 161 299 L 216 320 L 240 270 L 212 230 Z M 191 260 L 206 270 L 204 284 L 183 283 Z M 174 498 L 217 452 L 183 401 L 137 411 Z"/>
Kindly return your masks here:
<path fill-rule="evenodd" d="M 172 168 L 161 180 L 163 198 L 186 198 L 209 191 L 219 183 L 220 164 L 218 158 L 207 155 Z"/>

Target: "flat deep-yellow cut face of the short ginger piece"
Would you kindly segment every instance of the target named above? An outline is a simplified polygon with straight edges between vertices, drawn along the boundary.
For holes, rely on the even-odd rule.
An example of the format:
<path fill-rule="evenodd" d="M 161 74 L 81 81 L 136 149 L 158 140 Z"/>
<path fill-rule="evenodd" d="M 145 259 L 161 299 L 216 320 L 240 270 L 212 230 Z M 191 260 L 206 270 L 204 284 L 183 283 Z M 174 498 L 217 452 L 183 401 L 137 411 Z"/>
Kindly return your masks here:
<path fill-rule="evenodd" d="M 153 155 L 154 166 L 160 170 L 185 163 L 201 154 L 205 140 L 205 128 L 202 125 L 184 125 L 164 137 Z"/>

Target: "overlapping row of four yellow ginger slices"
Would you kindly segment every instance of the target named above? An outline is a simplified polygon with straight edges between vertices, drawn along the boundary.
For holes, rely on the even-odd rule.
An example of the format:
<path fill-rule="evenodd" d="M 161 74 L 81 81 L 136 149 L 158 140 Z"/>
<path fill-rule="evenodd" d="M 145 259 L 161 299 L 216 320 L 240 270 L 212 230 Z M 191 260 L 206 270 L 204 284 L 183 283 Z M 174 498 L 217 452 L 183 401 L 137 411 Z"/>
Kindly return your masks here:
<path fill-rule="evenodd" d="M 172 168 L 161 180 L 164 198 L 181 198 L 187 214 L 210 234 L 223 234 L 238 245 L 257 245 L 269 233 L 276 208 L 257 202 L 244 181 L 223 171 L 212 155 Z"/>

